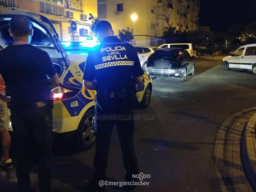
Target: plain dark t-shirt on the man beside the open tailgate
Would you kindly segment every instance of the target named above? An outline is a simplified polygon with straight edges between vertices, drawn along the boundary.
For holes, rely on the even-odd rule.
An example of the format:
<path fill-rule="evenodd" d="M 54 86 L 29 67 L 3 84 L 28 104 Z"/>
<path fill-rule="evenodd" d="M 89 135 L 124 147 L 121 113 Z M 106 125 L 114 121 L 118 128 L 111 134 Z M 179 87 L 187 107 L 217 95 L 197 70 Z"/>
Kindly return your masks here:
<path fill-rule="evenodd" d="M 0 51 L 0 73 L 11 94 L 11 106 L 29 108 L 50 101 L 49 76 L 56 73 L 47 52 L 31 45 L 10 45 Z"/>

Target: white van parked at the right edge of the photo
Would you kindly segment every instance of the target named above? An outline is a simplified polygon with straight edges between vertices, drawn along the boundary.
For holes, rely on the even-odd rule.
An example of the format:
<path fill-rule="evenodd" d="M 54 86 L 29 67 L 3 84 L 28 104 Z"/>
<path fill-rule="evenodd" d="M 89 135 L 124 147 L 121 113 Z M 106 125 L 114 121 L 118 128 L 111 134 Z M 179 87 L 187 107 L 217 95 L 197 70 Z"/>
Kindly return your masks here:
<path fill-rule="evenodd" d="M 256 75 L 256 43 L 239 47 L 233 54 L 222 59 L 224 70 L 247 69 Z"/>

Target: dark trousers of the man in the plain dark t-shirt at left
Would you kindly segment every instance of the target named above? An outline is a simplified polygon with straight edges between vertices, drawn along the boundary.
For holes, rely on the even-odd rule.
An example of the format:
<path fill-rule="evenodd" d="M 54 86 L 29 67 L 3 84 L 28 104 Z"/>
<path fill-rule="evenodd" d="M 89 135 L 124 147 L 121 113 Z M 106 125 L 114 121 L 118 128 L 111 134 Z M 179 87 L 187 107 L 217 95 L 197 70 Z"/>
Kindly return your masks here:
<path fill-rule="evenodd" d="M 11 109 L 11 119 L 16 140 L 16 175 L 19 191 L 29 192 L 30 153 L 33 147 L 37 151 L 40 191 L 50 192 L 50 170 L 53 168 L 52 107 L 32 107 L 22 110 Z"/>

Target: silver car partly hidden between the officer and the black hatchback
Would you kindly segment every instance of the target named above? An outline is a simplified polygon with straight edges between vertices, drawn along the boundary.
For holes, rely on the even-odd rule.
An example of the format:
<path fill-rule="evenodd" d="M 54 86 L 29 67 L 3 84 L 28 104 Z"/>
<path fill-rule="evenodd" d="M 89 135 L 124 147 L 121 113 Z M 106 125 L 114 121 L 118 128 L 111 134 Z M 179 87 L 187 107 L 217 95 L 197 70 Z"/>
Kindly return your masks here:
<path fill-rule="evenodd" d="M 154 53 L 154 50 L 156 50 L 157 47 L 150 47 L 150 46 L 134 46 L 134 47 L 140 59 L 141 67 L 144 71 L 146 71 L 148 57 L 152 53 Z"/>

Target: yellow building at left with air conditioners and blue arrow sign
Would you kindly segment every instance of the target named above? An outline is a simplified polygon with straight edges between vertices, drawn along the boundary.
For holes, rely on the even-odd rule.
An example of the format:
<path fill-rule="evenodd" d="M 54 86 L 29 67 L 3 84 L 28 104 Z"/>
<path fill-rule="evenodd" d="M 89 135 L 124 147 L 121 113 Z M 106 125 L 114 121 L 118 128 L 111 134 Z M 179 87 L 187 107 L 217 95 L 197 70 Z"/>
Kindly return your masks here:
<path fill-rule="evenodd" d="M 97 15 L 96 0 L 0 0 L 0 6 L 42 14 L 53 23 L 61 41 L 96 42 L 89 20 L 89 13 Z M 71 29 L 72 21 L 76 31 Z"/>

